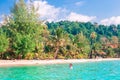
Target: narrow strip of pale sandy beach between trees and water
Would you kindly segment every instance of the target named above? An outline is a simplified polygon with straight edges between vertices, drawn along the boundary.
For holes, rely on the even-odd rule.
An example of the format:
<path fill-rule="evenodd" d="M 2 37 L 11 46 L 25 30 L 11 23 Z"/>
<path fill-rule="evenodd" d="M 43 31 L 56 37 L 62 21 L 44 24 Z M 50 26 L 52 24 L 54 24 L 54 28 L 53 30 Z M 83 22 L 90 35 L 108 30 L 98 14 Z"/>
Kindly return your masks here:
<path fill-rule="evenodd" d="M 50 65 L 50 64 L 69 64 L 83 62 L 99 62 L 120 60 L 120 58 L 101 58 L 101 59 L 56 59 L 56 60 L 0 60 L 0 67 L 12 66 L 32 66 L 32 65 Z"/>

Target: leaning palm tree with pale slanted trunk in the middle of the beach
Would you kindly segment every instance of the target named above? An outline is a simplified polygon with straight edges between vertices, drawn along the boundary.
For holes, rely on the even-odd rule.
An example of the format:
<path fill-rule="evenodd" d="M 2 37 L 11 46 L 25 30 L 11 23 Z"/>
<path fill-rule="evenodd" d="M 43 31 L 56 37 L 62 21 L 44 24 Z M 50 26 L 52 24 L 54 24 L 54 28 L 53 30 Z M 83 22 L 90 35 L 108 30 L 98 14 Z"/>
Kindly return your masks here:
<path fill-rule="evenodd" d="M 67 39 L 64 30 L 60 27 L 54 30 L 53 33 L 54 34 L 49 37 L 49 41 L 47 45 L 52 47 L 52 51 L 54 53 L 54 59 L 56 59 L 60 49 L 66 45 Z"/>

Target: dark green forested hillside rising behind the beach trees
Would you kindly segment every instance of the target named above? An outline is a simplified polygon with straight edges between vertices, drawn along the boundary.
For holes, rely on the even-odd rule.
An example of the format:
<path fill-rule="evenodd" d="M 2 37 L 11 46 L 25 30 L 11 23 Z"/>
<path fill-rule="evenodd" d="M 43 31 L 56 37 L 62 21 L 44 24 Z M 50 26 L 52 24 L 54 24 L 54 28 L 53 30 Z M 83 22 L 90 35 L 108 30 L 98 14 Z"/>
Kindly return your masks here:
<path fill-rule="evenodd" d="M 60 22 L 47 22 L 48 29 L 50 31 L 56 29 L 57 27 L 63 28 L 67 33 L 76 35 L 83 33 L 87 38 L 90 39 L 90 34 L 96 32 L 97 40 L 102 37 L 111 39 L 111 37 L 116 36 L 120 38 L 120 25 L 98 25 L 97 23 L 82 23 L 82 22 L 70 22 L 70 21 L 60 21 Z"/>

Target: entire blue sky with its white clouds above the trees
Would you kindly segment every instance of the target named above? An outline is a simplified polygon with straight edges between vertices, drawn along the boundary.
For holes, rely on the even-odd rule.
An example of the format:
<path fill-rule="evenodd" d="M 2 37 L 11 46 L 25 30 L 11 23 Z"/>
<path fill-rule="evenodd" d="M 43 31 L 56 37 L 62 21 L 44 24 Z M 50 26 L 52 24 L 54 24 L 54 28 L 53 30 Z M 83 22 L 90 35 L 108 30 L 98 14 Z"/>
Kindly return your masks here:
<path fill-rule="evenodd" d="M 0 18 L 10 14 L 15 0 L 0 0 Z M 47 21 L 98 22 L 120 24 L 120 0 L 34 0 L 41 19 Z"/>

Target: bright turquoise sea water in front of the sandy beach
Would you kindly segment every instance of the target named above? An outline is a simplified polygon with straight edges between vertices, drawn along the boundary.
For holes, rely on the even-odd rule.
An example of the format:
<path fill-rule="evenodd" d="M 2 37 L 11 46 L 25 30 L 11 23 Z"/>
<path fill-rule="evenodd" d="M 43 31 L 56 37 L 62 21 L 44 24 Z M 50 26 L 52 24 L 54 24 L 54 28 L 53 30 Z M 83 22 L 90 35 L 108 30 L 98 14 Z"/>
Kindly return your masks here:
<path fill-rule="evenodd" d="M 120 80 L 120 61 L 1 67 L 0 80 Z"/>

